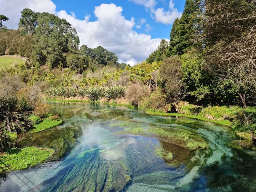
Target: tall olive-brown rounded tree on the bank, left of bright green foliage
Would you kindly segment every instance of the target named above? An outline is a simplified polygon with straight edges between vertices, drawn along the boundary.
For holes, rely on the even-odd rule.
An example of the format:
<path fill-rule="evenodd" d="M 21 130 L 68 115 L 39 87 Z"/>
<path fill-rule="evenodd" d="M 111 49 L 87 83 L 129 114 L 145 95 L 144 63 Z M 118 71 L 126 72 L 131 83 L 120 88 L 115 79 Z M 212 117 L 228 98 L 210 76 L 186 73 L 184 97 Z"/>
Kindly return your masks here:
<path fill-rule="evenodd" d="M 167 101 L 173 103 L 184 97 L 185 84 L 182 81 L 183 76 L 179 57 L 166 58 L 160 66 L 159 76 Z"/>

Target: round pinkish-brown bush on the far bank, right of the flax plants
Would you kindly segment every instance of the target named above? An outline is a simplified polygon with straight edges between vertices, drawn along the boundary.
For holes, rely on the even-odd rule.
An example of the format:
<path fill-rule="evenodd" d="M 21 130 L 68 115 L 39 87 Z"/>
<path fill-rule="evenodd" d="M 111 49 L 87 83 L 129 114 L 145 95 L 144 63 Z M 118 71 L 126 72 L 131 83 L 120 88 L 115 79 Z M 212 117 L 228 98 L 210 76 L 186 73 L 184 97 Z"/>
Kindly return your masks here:
<path fill-rule="evenodd" d="M 149 95 L 150 87 L 141 85 L 139 82 L 130 84 L 125 92 L 125 97 L 135 107 L 141 105 L 143 98 L 148 97 Z"/>

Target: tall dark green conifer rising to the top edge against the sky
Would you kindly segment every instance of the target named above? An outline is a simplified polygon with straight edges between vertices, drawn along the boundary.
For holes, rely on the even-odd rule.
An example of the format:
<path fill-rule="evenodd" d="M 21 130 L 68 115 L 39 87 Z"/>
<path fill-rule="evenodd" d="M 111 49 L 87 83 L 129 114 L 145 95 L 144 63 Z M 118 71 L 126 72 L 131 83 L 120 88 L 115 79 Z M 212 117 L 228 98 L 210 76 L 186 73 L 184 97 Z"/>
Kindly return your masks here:
<path fill-rule="evenodd" d="M 170 33 L 170 55 L 182 55 L 192 47 L 200 47 L 195 39 L 195 28 L 200 21 L 201 1 L 186 0 L 183 14 L 176 19 Z"/>

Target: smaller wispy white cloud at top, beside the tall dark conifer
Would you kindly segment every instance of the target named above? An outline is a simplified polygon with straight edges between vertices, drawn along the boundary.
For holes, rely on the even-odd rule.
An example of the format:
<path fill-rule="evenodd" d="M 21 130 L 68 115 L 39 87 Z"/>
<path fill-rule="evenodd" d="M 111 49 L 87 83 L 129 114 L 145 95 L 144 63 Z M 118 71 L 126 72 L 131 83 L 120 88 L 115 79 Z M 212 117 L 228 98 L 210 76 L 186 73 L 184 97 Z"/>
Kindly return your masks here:
<path fill-rule="evenodd" d="M 136 4 L 143 5 L 150 10 L 151 17 L 159 23 L 172 24 L 177 17 L 181 17 L 181 12 L 174 8 L 173 0 L 169 1 L 168 10 L 165 11 L 163 7 L 155 8 L 157 2 L 155 0 L 129 0 Z"/>

